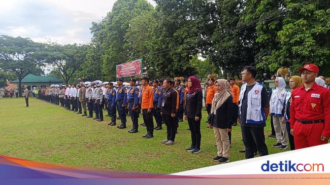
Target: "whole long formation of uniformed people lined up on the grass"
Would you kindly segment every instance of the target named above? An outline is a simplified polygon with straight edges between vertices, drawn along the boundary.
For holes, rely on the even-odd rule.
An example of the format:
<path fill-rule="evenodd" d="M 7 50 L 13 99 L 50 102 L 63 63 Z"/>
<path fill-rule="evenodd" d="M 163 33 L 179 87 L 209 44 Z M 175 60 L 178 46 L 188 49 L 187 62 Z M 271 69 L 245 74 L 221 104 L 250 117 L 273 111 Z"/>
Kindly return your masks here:
<path fill-rule="evenodd" d="M 138 118 L 142 113 L 144 123 L 141 125 L 147 129 L 147 133 L 142 137 L 152 138 L 154 130 L 160 130 L 162 124 L 166 124 L 167 138 L 161 142 L 167 145 L 175 143 L 179 122 L 185 119 L 191 132 L 191 145 L 186 151 L 194 154 L 201 152 L 200 127 L 204 99 L 208 112 L 208 127 L 214 130 L 218 149 L 213 160 L 222 164 L 229 162 L 231 131 L 237 121 L 242 129 L 245 145 L 245 150 L 242 151 L 245 152 L 246 159 L 253 158 L 257 153 L 260 156 L 268 155 L 263 130 L 268 115 L 276 127 L 277 143 L 272 145 L 274 147 L 285 150 L 285 137 L 288 135 L 292 138 L 291 150 L 294 150 L 294 144 L 297 144 L 296 149 L 300 149 L 327 143 L 330 136 L 330 92 L 325 86 L 321 87 L 323 85 L 315 82 L 318 81 L 315 80 L 318 75 L 316 65 L 305 65 L 299 72 L 302 77 L 290 78 L 296 85 L 291 87 L 290 81 L 293 92 L 286 90 L 284 80 L 278 77 L 271 97 L 268 96 L 265 85 L 255 81 L 256 69 L 251 66 L 245 67 L 242 72 L 241 88 L 236 85 L 235 79 L 216 80 L 211 76 L 205 83 L 204 97 L 201 82 L 194 76 L 187 78 L 184 85 L 181 82 L 183 78 L 150 82 L 148 77 L 143 77 L 139 82 L 130 79 L 129 84 L 118 79 L 116 83 L 96 80 L 80 82 L 77 85 L 51 85 L 37 89 L 35 93 L 39 99 L 98 122 L 104 121 L 103 110 L 107 110 L 106 116 L 111 118 L 108 125 L 115 126 L 116 120 L 120 120 L 117 126 L 119 129 L 126 128 L 126 115 L 130 116 L 133 128 L 128 130 L 129 133 L 138 132 Z M 300 79 L 301 83 L 297 79 Z M 304 91 L 295 90 L 304 87 Z M 310 111 L 306 112 L 304 109 Z M 310 120 L 309 117 L 313 119 Z M 153 119 L 156 121 L 155 127 Z M 310 127 L 316 129 L 313 132 L 304 130 Z M 319 137 L 318 140 L 315 139 L 316 136 Z"/>

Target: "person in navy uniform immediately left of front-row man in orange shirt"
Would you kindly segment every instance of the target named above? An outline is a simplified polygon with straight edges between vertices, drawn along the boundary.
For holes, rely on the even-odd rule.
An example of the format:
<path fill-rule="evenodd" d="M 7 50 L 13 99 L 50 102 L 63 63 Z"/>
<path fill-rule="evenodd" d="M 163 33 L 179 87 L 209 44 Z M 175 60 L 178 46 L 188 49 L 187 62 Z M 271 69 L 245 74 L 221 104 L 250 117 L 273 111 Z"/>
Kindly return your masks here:
<path fill-rule="evenodd" d="M 132 120 L 132 123 L 133 123 L 133 129 L 138 130 L 138 127 L 139 127 L 139 124 L 138 124 L 139 89 L 136 86 L 130 87 L 128 89 L 127 101 L 128 101 L 130 119 Z M 135 110 L 133 110 L 133 107 L 135 107 Z"/>

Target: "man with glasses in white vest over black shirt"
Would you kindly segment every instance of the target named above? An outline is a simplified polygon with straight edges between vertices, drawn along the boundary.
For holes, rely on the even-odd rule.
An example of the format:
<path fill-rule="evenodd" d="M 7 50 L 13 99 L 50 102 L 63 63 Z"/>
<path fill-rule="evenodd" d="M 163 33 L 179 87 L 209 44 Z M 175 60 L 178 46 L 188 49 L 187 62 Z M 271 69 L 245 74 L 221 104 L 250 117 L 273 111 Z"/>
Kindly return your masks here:
<path fill-rule="evenodd" d="M 252 66 L 244 67 L 242 73 L 242 80 L 246 83 L 242 85 L 240 92 L 239 121 L 246 159 L 254 157 L 253 142 L 255 142 L 260 156 L 268 155 L 263 128 L 266 126 L 269 114 L 269 98 L 265 86 L 255 81 L 256 74 L 257 71 Z"/>

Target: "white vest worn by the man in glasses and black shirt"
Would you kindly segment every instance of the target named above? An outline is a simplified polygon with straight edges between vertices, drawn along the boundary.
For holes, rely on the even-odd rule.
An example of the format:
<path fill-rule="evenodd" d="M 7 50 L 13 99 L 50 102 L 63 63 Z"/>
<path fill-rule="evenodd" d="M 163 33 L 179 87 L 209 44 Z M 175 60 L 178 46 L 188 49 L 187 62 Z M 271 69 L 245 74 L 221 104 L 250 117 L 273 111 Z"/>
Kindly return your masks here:
<path fill-rule="evenodd" d="M 243 84 L 241 87 L 240 92 L 240 115 L 241 115 L 241 106 L 242 106 L 242 100 L 244 97 L 244 93 L 246 90 L 247 84 Z M 247 112 L 246 112 L 246 123 L 251 124 L 265 124 L 266 123 L 266 116 L 265 112 L 261 108 L 261 91 L 263 86 L 259 83 L 256 83 L 251 91 L 248 93 L 247 98 Z"/>

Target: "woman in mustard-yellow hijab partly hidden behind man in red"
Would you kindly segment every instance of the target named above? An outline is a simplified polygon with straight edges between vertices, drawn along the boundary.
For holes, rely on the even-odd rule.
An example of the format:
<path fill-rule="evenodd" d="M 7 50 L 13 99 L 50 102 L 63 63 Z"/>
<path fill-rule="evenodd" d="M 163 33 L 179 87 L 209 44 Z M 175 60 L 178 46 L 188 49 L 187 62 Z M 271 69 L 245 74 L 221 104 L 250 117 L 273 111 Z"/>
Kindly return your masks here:
<path fill-rule="evenodd" d="M 291 104 L 291 94 L 292 91 L 301 86 L 303 84 L 302 78 L 299 76 L 292 76 L 289 78 L 289 86 L 291 88 L 290 91 L 290 96 L 288 96 L 285 99 L 285 111 L 284 111 L 284 117 L 282 118 L 282 123 L 285 123 L 286 126 L 286 131 L 288 133 L 288 137 L 289 137 L 289 143 L 290 143 L 290 150 L 293 151 L 294 150 L 294 140 L 293 140 L 293 135 L 292 133 L 290 133 L 290 123 L 289 123 L 289 119 L 290 119 L 290 104 Z"/>

